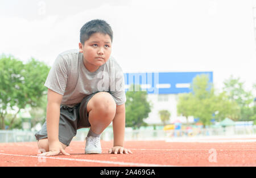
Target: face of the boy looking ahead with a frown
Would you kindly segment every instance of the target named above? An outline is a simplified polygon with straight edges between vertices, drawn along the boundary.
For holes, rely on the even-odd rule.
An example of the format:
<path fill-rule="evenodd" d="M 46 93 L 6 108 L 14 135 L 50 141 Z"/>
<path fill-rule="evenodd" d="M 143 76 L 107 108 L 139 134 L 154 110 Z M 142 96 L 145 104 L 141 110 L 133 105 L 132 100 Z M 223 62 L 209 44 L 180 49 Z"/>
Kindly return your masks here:
<path fill-rule="evenodd" d="M 112 43 L 109 35 L 93 33 L 84 45 L 79 43 L 80 52 L 84 56 L 84 65 L 90 72 L 94 72 L 109 60 Z"/>

